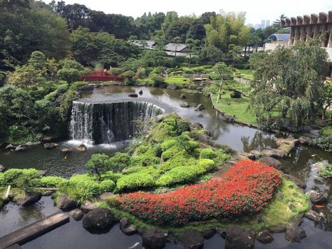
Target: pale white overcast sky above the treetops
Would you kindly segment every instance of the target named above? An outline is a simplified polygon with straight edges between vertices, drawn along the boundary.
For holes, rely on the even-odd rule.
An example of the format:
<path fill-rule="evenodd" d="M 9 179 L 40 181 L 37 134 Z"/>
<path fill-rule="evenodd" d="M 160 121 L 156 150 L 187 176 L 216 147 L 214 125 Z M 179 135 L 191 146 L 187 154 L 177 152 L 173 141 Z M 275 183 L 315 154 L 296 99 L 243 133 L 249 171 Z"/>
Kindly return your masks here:
<path fill-rule="evenodd" d="M 44 0 L 49 3 L 50 0 Z M 56 0 L 57 1 L 57 0 Z M 221 10 L 244 11 L 247 13 L 247 24 L 257 24 L 261 20 L 287 17 L 311 13 L 332 11 L 332 0 L 64 0 L 67 4 L 84 4 L 95 11 L 130 15 L 137 18 L 144 12 L 155 13 L 177 11 L 179 15 L 201 15 L 202 13 Z"/>

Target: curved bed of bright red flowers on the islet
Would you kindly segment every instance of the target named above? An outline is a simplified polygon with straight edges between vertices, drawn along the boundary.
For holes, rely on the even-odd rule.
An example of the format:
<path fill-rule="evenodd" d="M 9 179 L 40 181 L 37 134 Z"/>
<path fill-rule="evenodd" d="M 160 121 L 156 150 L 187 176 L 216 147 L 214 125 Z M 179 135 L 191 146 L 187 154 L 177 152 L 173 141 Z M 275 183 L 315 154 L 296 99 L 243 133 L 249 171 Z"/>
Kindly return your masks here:
<path fill-rule="evenodd" d="M 258 213 L 268 205 L 280 183 L 275 168 L 258 161 L 239 161 L 223 180 L 193 184 L 166 194 L 120 196 L 120 207 L 158 225 L 179 226 L 190 221 Z"/>

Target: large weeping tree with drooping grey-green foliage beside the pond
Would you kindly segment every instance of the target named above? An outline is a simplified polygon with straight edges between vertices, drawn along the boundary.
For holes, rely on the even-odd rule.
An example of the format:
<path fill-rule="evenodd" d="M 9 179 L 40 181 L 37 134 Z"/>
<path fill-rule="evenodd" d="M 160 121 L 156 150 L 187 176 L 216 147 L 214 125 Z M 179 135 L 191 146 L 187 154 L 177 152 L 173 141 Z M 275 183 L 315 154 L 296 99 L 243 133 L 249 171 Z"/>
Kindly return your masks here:
<path fill-rule="evenodd" d="M 250 107 L 257 121 L 272 128 L 289 123 L 293 130 L 313 123 L 324 107 L 326 60 L 317 41 L 251 56 Z"/>

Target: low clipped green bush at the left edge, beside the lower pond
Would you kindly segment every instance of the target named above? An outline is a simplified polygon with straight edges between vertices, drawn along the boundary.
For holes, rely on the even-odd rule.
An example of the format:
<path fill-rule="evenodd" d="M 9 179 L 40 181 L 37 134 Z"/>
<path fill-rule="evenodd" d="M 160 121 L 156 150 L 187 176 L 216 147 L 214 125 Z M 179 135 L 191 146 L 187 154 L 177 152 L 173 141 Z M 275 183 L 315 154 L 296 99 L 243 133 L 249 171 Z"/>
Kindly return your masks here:
<path fill-rule="evenodd" d="M 13 187 L 15 187 L 15 182 L 20 177 L 29 177 L 31 180 L 34 180 L 39 179 L 41 175 L 39 174 L 38 170 L 34 168 L 22 170 L 18 168 L 11 168 L 7 170 L 2 176 L 2 185 L 13 185 Z"/>

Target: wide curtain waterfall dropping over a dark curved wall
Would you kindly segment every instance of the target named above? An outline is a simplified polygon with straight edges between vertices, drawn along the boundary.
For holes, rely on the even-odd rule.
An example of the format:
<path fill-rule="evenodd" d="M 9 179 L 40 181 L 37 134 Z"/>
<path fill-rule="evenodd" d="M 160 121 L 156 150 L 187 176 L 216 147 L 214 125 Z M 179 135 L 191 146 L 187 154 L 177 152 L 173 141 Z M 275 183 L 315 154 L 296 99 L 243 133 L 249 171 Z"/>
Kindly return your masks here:
<path fill-rule="evenodd" d="M 72 140 L 109 144 L 128 140 L 137 132 L 135 120 L 147 121 L 164 109 L 150 102 L 73 102 L 70 135 Z"/>

